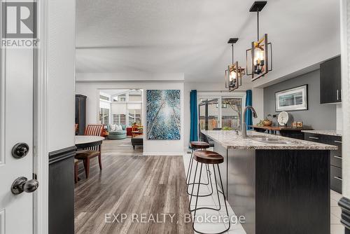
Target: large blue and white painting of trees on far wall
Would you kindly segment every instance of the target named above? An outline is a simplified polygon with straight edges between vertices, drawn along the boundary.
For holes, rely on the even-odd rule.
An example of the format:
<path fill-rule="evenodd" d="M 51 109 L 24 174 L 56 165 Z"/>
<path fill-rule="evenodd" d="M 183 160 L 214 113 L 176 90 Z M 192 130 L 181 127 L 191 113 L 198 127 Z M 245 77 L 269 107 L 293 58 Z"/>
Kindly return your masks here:
<path fill-rule="evenodd" d="M 147 90 L 147 139 L 180 139 L 180 90 Z"/>

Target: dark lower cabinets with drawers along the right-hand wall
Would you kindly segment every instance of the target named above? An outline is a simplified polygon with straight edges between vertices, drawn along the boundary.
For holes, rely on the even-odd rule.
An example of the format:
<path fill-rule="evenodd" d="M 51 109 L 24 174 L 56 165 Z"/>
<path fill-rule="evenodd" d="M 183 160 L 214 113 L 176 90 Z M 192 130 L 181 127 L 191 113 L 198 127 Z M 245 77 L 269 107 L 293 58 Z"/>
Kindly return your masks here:
<path fill-rule="evenodd" d="M 330 151 L 330 188 L 342 193 L 342 137 L 305 133 L 304 139 L 338 146 L 336 151 Z"/>

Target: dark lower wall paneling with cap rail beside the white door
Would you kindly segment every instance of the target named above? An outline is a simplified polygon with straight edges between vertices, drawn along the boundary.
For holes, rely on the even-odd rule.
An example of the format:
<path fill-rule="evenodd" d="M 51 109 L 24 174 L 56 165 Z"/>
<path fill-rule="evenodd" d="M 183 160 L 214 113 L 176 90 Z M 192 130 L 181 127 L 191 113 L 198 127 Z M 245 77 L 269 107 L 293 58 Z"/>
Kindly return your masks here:
<path fill-rule="evenodd" d="M 74 234 L 76 146 L 49 153 L 48 233 Z"/>

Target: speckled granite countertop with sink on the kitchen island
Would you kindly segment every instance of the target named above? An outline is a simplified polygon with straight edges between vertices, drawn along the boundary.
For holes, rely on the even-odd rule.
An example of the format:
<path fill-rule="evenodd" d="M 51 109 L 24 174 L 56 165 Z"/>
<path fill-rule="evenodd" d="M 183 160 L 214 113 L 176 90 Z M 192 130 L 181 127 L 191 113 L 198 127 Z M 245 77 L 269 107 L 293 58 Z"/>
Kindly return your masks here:
<path fill-rule="evenodd" d="M 262 132 L 247 131 L 248 138 L 243 139 L 241 132 L 236 131 L 201 131 L 204 135 L 207 135 L 214 142 L 218 142 L 225 149 L 309 149 L 309 150 L 336 150 L 337 146 L 331 146 L 328 144 L 320 144 L 316 142 L 308 142 L 301 139 L 293 139 L 289 137 L 281 137 L 279 135 L 270 135 Z M 249 138 L 251 137 L 251 138 Z M 276 143 L 263 143 L 256 142 L 253 137 L 269 137 L 274 139 L 280 139 L 286 142 L 286 144 Z"/>

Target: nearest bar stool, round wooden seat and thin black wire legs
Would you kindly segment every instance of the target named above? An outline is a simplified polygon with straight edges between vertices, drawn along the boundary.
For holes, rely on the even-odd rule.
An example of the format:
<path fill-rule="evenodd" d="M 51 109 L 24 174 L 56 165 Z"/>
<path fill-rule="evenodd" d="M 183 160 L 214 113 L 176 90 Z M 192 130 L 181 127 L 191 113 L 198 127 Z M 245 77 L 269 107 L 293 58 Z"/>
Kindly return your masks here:
<path fill-rule="evenodd" d="M 200 179 L 199 179 L 199 183 L 198 183 L 198 188 L 197 188 L 197 195 L 192 195 L 193 194 L 193 188 L 192 187 L 192 192 L 191 192 L 191 197 L 190 197 L 190 204 L 188 205 L 188 209 L 190 210 L 190 212 L 195 212 L 195 214 L 193 215 L 193 219 L 195 219 L 196 216 L 196 212 L 198 209 L 213 209 L 216 211 L 221 210 L 221 202 L 220 202 L 220 195 L 219 195 L 219 191 L 218 191 L 218 181 L 216 180 L 216 172 L 215 172 L 215 166 L 216 165 L 218 167 L 218 174 L 219 174 L 219 179 L 220 179 L 220 184 L 221 184 L 221 188 L 223 188 L 223 180 L 221 179 L 221 172 L 220 172 L 220 167 L 219 164 L 223 163 L 224 159 L 223 156 L 221 156 L 219 153 L 216 153 L 214 151 L 195 151 L 193 154 L 193 158 L 197 161 L 197 165 L 196 165 L 196 169 L 195 169 L 195 179 L 197 177 L 197 168 L 198 168 L 198 163 L 200 163 L 200 179 L 202 177 L 202 167 L 203 167 L 203 163 L 205 165 L 213 165 L 213 171 L 214 171 L 214 179 L 215 179 L 215 184 L 216 184 L 216 193 L 218 195 L 218 204 L 219 207 L 218 209 L 212 208 L 212 207 L 197 207 L 198 204 L 198 194 L 200 193 Z M 193 182 L 195 181 L 195 179 L 193 179 Z M 228 205 L 226 204 L 226 196 L 225 196 L 225 191 L 223 190 L 221 192 L 223 194 L 223 200 L 225 202 L 225 209 L 226 209 L 226 214 L 229 217 L 228 214 Z M 195 209 L 190 209 L 190 205 L 192 202 L 192 197 L 195 196 L 196 197 L 196 203 L 195 203 Z M 221 231 L 220 233 L 225 233 L 226 231 L 230 230 L 231 227 L 231 223 L 230 223 L 230 219 L 228 219 L 228 228 Z M 193 222 L 193 230 L 195 230 L 197 233 L 202 233 L 198 230 L 195 229 L 195 222 Z M 211 233 L 211 234 L 220 234 L 220 233 Z M 202 234 L 207 234 L 207 233 L 202 233 Z"/>

